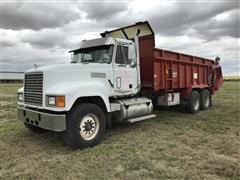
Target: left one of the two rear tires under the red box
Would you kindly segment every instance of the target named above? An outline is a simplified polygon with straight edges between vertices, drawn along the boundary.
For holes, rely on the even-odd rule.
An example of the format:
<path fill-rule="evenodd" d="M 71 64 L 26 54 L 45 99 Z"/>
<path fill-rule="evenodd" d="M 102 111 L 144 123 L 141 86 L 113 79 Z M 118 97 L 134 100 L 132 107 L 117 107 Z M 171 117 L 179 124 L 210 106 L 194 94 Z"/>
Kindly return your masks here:
<path fill-rule="evenodd" d="M 198 91 L 193 90 L 189 96 L 186 110 L 188 113 L 195 114 L 200 110 L 200 95 Z"/>

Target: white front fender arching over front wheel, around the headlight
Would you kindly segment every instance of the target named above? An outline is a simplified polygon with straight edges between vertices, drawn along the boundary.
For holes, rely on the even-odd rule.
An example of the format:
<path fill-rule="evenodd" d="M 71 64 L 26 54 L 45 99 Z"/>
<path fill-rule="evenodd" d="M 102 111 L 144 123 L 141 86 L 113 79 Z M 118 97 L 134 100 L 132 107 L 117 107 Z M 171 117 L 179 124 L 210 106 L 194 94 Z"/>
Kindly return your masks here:
<path fill-rule="evenodd" d="M 99 96 L 105 103 L 106 109 L 110 112 L 108 94 L 110 87 L 99 81 L 81 81 L 74 83 L 61 83 L 47 89 L 46 95 L 65 95 L 65 108 L 61 111 L 69 111 L 75 101 L 80 97 Z M 60 110 L 59 108 L 49 108 L 49 110 Z"/>

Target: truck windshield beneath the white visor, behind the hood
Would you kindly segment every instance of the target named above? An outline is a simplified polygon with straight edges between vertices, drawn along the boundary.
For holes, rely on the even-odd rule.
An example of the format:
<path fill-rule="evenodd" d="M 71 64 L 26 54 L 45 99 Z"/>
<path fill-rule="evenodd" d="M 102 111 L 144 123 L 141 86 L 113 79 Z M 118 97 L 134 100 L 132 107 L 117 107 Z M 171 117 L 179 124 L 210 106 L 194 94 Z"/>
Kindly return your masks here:
<path fill-rule="evenodd" d="M 90 47 L 74 51 L 71 63 L 111 63 L 113 45 Z"/>

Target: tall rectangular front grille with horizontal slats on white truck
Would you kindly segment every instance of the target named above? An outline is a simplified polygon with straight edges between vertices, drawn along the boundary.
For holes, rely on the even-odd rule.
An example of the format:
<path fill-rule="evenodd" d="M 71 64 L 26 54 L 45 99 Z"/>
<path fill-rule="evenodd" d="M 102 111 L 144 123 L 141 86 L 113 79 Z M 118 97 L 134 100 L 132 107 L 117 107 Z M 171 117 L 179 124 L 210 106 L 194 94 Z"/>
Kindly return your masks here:
<path fill-rule="evenodd" d="M 24 79 L 24 102 L 42 106 L 43 96 L 43 73 L 34 72 L 25 74 Z"/>

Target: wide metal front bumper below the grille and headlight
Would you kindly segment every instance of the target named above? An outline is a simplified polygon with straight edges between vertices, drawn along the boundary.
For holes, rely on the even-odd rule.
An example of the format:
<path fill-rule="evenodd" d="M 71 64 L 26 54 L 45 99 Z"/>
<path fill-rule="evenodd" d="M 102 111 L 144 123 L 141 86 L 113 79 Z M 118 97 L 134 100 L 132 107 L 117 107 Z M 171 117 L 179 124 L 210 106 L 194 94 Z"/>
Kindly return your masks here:
<path fill-rule="evenodd" d="M 45 113 L 18 107 L 18 118 L 24 123 L 43 129 L 57 132 L 66 130 L 65 114 Z"/>

